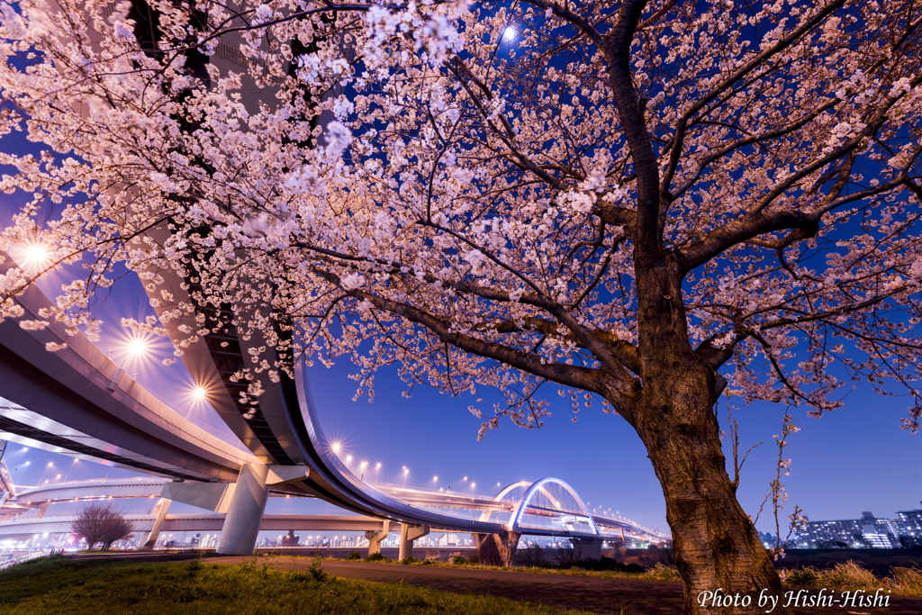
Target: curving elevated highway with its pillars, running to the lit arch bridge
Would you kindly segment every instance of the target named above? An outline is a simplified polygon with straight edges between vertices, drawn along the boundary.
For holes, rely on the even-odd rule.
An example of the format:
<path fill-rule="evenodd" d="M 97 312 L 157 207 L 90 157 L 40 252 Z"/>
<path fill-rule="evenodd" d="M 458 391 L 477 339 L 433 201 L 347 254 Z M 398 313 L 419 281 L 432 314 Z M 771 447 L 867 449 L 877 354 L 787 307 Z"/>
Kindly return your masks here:
<path fill-rule="evenodd" d="M 160 241 L 167 237 L 166 231 L 155 231 L 155 240 L 156 232 L 160 232 Z M 6 259 L 0 274 L 9 266 Z M 160 286 L 148 289 L 152 298 L 172 296 L 177 303 L 193 302 L 183 290 L 188 285 L 182 278 L 171 272 L 162 278 Z M 258 336 L 239 336 L 227 325 L 231 319 L 225 319 L 223 329 L 216 326 L 212 333 L 189 342 L 180 327 L 198 326 L 195 314 L 188 314 L 185 321 L 173 319 L 167 325 L 171 339 L 187 342 L 183 362 L 221 419 L 249 450 L 231 446 L 162 404 L 81 333 L 68 335 L 74 332 L 57 323 L 44 328 L 21 326 L 23 321 L 41 320 L 42 309 L 51 307 L 41 290 L 32 286 L 16 302 L 23 315 L 0 323 L 0 380 L 10 383 L 3 391 L 6 399 L 0 399 L 3 437 L 189 483 L 213 483 L 201 488 L 165 483 L 164 490 L 171 492 L 161 495 L 170 496 L 163 507 L 165 519 L 170 499 L 201 505 L 200 497 L 186 496 L 207 491 L 205 507 L 214 505 L 212 510 L 228 513 L 219 552 L 253 551 L 270 487 L 399 523 L 401 558 L 408 557 L 414 538 L 431 529 L 469 532 L 492 553 L 487 553 L 488 560 L 501 561 L 511 561 L 522 533 L 565 536 L 600 548 L 607 528 L 648 532 L 621 520 L 597 523 L 579 495 L 559 479 L 510 486 L 507 489 L 521 492 L 514 502 L 503 502 L 504 496 L 485 499 L 376 489 L 357 477 L 325 438 L 302 363 L 295 366 L 293 378 L 282 373 L 278 382 L 265 371 L 257 373 L 254 377 L 265 393 L 255 403 L 244 404 L 239 394 L 245 384 L 235 374 L 252 367 L 254 361 L 275 361 L 274 350 L 266 350 Z M 152 304 L 159 311 L 175 307 Z M 232 307 L 227 311 L 234 313 Z M 66 347 L 49 352 L 49 344 Z M 261 353 L 251 352 L 261 346 Z"/>

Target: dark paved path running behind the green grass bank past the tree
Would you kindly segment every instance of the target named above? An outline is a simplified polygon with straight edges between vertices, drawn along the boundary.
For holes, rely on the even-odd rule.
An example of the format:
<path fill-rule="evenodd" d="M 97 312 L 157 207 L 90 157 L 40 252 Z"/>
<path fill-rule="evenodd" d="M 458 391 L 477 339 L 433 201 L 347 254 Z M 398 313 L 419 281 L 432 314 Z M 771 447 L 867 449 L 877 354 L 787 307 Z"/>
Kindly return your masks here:
<path fill-rule="evenodd" d="M 106 558 L 139 562 L 177 562 L 190 560 L 190 554 L 148 554 L 79 556 L 84 558 Z M 207 555 L 208 563 L 239 564 L 250 558 Z M 308 560 L 291 558 L 258 558 L 257 562 L 270 562 L 278 570 L 306 570 Z M 609 579 L 594 576 L 570 576 L 565 574 L 507 573 L 471 568 L 438 568 L 423 566 L 401 566 L 365 562 L 323 562 L 328 574 L 349 579 L 365 579 L 382 583 L 403 582 L 408 585 L 441 589 L 462 594 L 489 594 L 514 600 L 540 602 L 567 609 L 585 609 L 597 613 L 621 613 L 627 615 L 680 615 L 682 612 L 682 586 L 667 581 L 640 581 L 633 579 Z M 816 594 L 816 592 L 811 592 Z M 828 592 L 827 592 L 828 594 Z M 841 597 L 837 592 L 836 597 Z M 716 609 L 715 609 L 716 610 Z M 767 610 L 767 609 L 766 609 Z M 780 609 L 775 609 L 778 612 Z M 920 615 L 922 598 L 891 597 L 890 606 L 885 609 L 852 609 L 838 607 L 817 607 L 793 609 L 797 615 Z"/>

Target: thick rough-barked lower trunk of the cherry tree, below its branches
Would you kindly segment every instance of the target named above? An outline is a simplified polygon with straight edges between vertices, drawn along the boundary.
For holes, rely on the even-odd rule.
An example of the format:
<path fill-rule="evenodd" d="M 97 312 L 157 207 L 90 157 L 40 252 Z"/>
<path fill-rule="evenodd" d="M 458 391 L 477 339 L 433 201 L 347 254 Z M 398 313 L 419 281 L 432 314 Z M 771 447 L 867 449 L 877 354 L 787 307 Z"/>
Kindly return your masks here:
<path fill-rule="evenodd" d="M 773 612 L 784 612 L 772 558 L 727 475 L 712 403 L 714 375 L 703 365 L 690 367 L 667 367 L 644 378 L 632 417 L 666 496 L 685 611 L 764 613 L 772 607 L 771 595 L 778 597 Z"/>

